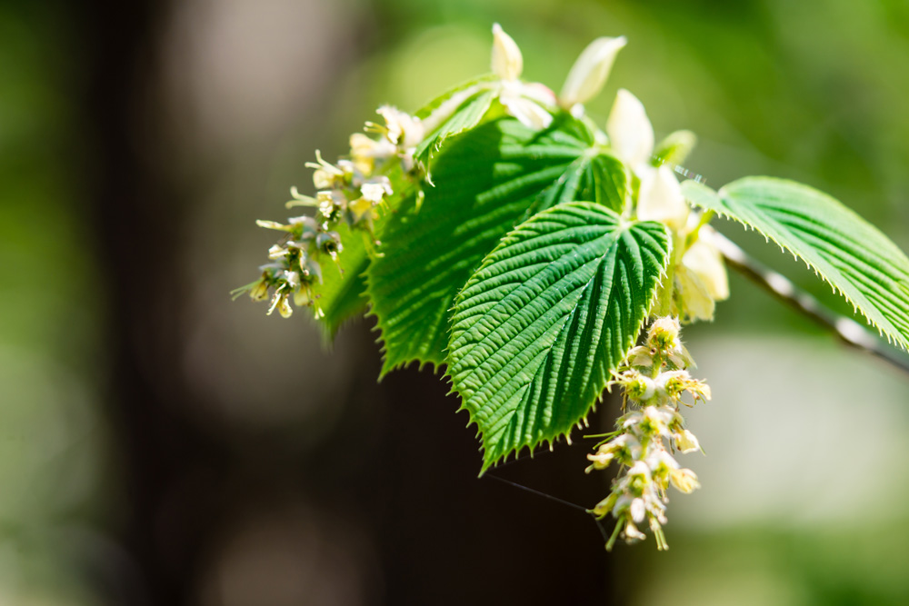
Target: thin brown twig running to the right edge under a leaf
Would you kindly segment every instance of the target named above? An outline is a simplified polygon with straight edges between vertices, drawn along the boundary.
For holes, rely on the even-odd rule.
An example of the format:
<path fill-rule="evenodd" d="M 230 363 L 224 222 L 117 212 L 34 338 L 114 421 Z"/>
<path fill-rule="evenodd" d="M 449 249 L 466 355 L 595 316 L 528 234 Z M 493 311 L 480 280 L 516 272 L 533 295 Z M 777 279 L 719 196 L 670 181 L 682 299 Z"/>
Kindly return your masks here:
<path fill-rule="evenodd" d="M 827 309 L 823 303 L 795 286 L 782 273 L 776 273 L 763 263 L 748 256 L 748 253 L 745 253 L 736 243 L 726 238 L 723 234 L 714 233 L 713 235 L 714 243 L 720 249 L 720 252 L 723 253 L 726 263 L 738 272 L 743 273 L 746 278 L 761 286 L 796 311 L 804 313 L 815 323 L 833 332 L 846 345 L 865 353 L 871 353 L 884 360 L 884 362 L 890 363 L 904 373 L 909 374 L 909 361 L 894 353 L 891 348 L 875 337 L 874 334 L 865 330 L 864 326 Z"/>

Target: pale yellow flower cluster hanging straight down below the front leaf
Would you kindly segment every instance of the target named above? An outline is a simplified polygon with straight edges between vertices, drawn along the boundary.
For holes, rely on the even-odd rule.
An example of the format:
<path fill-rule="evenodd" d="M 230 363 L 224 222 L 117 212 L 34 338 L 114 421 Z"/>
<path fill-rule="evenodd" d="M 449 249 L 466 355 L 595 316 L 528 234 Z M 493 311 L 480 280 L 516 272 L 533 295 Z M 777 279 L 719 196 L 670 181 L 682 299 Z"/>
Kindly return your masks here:
<path fill-rule="evenodd" d="M 680 403 L 710 399 L 710 388 L 686 370 L 691 365 L 679 340 L 678 320 L 664 317 L 654 321 L 644 345 L 629 353 L 628 363 L 610 382 L 622 388 L 626 412 L 616 422 L 616 431 L 587 455 L 591 465 L 586 470 L 604 470 L 612 462 L 621 468 L 609 496 L 592 510 L 597 518 L 611 513 L 617 520 L 607 550 L 619 536 L 628 542 L 644 539 L 640 530 L 644 522 L 654 532 L 657 548 L 668 549 L 663 526 L 669 485 L 686 493 L 700 486 L 694 472 L 673 456 L 675 451 L 701 448 L 679 413 Z M 686 393 L 691 404 L 683 400 Z"/>

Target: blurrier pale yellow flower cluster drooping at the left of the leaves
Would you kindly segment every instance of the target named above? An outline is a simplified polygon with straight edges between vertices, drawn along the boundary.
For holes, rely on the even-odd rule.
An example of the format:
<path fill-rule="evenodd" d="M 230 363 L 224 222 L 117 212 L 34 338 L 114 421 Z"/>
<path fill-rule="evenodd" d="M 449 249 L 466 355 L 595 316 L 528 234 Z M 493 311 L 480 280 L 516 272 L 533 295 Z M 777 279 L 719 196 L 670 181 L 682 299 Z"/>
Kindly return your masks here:
<path fill-rule="evenodd" d="M 394 194 L 392 183 L 384 173 L 392 163 L 400 163 L 408 174 L 414 171 L 414 149 L 423 139 L 423 126 L 419 119 L 391 106 L 380 107 L 377 114 L 385 118 L 385 124 L 366 123 L 367 132 L 378 134 L 377 138 L 352 134 L 348 158 L 330 164 L 316 152 L 316 162 L 306 164 L 315 169 L 315 197 L 292 188 L 294 199 L 287 207 L 309 207 L 314 211 L 312 215 L 291 217 L 286 224 L 255 222 L 260 227 L 284 232 L 285 237 L 268 250 L 271 263 L 260 268 L 259 280 L 235 293 L 248 292 L 254 301 L 270 297 L 268 314 L 276 309 L 285 318 L 290 317 L 294 313 L 291 301 L 297 307 L 315 305 L 318 295 L 314 294 L 314 287 L 322 283 L 322 263 L 326 257 L 342 271 L 338 253 L 344 250 L 344 245 L 339 226 L 345 225 L 350 232 L 361 232 L 370 248 L 378 244 L 373 224 L 385 200 Z M 315 314 L 322 315 L 317 305 Z"/>

